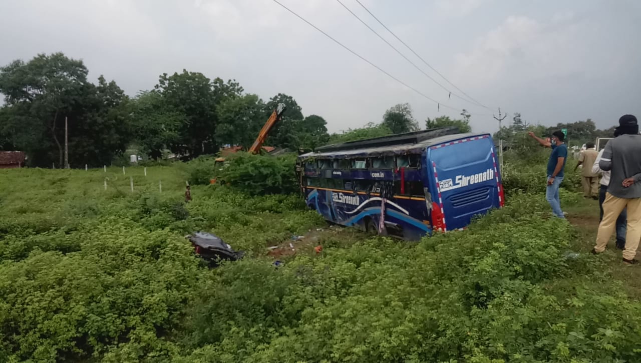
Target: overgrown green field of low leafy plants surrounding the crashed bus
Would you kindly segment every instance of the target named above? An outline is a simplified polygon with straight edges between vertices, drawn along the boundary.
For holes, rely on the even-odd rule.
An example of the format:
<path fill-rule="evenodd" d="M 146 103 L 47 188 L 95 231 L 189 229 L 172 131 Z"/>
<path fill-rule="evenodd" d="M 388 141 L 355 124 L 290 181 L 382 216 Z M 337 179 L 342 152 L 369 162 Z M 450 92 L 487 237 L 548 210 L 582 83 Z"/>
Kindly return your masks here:
<path fill-rule="evenodd" d="M 1 362 L 641 361 L 639 269 L 588 253 L 597 202 L 563 190 L 569 223 L 550 219 L 537 171 L 469 230 L 408 243 L 297 195 L 184 203 L 189 167 L 0 171 Z M 248 258 L 208 268 L 196 230 Z"/>

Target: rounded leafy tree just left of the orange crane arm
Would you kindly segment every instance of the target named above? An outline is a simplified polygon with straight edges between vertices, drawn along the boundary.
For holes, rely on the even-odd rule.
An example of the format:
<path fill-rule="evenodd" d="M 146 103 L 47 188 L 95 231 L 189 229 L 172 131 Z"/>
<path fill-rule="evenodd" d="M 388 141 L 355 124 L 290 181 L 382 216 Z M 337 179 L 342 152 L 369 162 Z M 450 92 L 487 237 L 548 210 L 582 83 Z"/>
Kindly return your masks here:
<path fill-rule="evenodd" d="M 265 124 L 265 104 L 255 94 L 230 97 L 216 107 L 219 122 L 216 138 L 219 144 L 249 148 Z"/>

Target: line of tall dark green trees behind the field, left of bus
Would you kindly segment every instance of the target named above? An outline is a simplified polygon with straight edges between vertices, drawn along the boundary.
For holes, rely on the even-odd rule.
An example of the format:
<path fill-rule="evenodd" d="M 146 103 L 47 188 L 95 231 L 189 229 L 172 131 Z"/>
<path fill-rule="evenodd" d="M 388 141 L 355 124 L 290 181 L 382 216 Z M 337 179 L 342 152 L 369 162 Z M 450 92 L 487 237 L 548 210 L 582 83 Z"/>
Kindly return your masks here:
<path fill-rule="evenodd" d="M 72 167 L 108 165 L 131 144 L 149 158 L 166 150 L 195 158 L 222 146 L 251 146 L 279 103 L 287 111 L 269 145 L 313 149 L 329 139 L 326 121 L 303 115 L 294 97 L 263 101 L 235 80 L 164 73 L 152 89 L 129 97 L 115 81 L 100 76 L 95 84 L 87 75 L 81 60 L 63 53 L 0 67 L 0 150 L 25 151 L 31 166 L 63 167 L 67 122 Z"/>

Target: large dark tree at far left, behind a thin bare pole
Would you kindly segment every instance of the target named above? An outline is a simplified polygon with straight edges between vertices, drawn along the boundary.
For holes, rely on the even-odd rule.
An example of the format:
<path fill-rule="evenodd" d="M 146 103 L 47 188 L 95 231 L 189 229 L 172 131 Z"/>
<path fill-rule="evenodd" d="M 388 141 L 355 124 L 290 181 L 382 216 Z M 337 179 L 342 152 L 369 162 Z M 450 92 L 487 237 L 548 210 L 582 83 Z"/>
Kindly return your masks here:
<path fill-rule="evenodd" d="M 121 153 L 129 137 L 124 92 L 101 76 L 87 81 L 87 67 L 63 55 L 40 54 L 29 62 L 15 60 L 0 68 L 4 94 L 0 134 L 13 148 L 26 151 L 31 165 L 56 162 L 63 167 L 65 118 L 69 163 L 107 164 Z"/>

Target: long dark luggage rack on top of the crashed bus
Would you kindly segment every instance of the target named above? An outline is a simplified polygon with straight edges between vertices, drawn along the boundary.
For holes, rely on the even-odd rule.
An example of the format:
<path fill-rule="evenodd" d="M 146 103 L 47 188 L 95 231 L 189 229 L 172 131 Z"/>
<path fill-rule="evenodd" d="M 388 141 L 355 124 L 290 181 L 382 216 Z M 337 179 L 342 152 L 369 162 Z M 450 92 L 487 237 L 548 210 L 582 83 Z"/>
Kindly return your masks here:
<path fill-rule="evenodd" d="M 372 139 L 356 140 L 342 142 L 340 144 L 320 146 L 320 148 L 317 148 L 316 151 L 319 153 L 326 153 L 331 151 L 376 148 L 379 146 L 417 144 L 428 139 L 435 139 L 436 137 L 445 135 L 455 135 L 457 133 L 460 133 L 457 127 L 433 128 L 424 131 L 397 133 L 396 135 L 374 137 Z"/>

